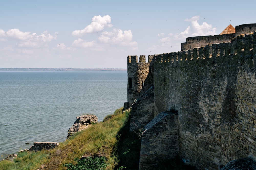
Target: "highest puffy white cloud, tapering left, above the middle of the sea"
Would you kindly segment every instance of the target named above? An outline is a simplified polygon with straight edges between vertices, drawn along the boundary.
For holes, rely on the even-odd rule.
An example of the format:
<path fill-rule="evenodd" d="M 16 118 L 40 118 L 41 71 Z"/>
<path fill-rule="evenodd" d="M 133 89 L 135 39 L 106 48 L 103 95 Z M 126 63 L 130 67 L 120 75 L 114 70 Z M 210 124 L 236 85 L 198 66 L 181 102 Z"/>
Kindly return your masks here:
<path fill-rule="evenodd" d="M 80 36 L 88 33 L 93 33 L 103 30 L 105 27 L 112 27 L 111 18 L 109 15 L 101 17 L 100 15 L 94 16 L 90 25 L 87 25 L 83 30 L 75 30 L 72 32 L 72 35 Z"/>

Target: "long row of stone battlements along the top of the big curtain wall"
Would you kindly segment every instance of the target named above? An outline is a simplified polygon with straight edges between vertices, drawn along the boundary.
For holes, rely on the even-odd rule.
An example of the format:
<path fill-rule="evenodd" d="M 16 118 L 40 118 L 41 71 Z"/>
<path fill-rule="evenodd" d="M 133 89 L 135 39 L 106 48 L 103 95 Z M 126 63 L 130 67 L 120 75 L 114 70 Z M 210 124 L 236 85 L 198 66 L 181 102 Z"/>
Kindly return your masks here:
<path fill-rule="evenodd" d="M 252 34 L 239 35 L 232 38 L 231 42 L 219 43 L 219 44 L 209 44 L 200 48 L 194 48 L 184 51 L 165 53 L 155 55 L 155 63 L 170 63 L 175 64 L 176 62 L 190 62 L 191 60 L 204 60 L 206 58 L 216 58 L 225 57 L 229 55 L 237 55 L 245 53 L 248 55 L 255 54 L 253 46 L 255 44 L 253 38 L 256 37 L 256 31 Z M 254 52 L 253 52 L 254 51 Z"/>

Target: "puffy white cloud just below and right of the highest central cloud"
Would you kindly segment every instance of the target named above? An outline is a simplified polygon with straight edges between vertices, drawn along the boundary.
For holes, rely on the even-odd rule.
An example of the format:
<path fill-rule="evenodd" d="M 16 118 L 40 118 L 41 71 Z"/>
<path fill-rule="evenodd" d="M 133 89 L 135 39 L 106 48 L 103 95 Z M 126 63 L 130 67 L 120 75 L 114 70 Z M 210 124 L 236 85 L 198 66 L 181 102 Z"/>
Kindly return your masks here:
<path fill-rule="evenodd" d="M 137 42 L 132 42 L 132 31 L 113 29 L 112 32 L 103 32 L 99 37 L 101 43 L 118 44 L 120 46 L 137 46 Z"/>

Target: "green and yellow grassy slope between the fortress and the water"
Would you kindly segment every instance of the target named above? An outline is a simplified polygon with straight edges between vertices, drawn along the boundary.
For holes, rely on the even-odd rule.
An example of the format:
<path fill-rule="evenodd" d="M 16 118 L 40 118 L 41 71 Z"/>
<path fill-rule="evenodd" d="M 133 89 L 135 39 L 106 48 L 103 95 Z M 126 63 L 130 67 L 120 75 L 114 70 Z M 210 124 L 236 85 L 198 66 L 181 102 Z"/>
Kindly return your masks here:
<path fill-rule="evenodd" d="M 107 169 L 118 169 L 122 166 L 133 169 L 138 165 L 140 142 L 129 133 L 126 126 L 129 115 L 129 112 L 122 113 L 120 108 L 111 119 L 76 133 L 60 143 L 60 147 L 51 151 L 20 153 L 14 161 L 1 161 L 0 169 L 38 169 L 42 164 L 42 169 L 66 169 L 63 164 L 76 164 L 74 159 L 83 155 L 104 156 L 107 159 Z"/>

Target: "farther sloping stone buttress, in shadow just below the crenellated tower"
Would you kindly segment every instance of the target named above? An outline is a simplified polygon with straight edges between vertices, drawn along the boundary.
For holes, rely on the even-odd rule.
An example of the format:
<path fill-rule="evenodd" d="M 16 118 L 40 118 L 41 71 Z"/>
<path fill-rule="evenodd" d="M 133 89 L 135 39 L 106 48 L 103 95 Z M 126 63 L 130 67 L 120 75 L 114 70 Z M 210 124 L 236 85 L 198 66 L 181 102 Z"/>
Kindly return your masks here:
<path fill-rule="evenodd" d="M 149 88 L 132 105 L 130 131 L 136 132 L 154 118 L 154 87 Z"/>

